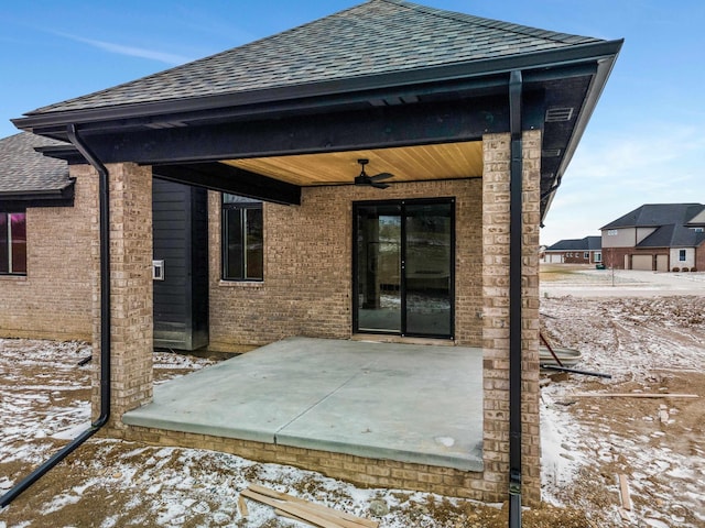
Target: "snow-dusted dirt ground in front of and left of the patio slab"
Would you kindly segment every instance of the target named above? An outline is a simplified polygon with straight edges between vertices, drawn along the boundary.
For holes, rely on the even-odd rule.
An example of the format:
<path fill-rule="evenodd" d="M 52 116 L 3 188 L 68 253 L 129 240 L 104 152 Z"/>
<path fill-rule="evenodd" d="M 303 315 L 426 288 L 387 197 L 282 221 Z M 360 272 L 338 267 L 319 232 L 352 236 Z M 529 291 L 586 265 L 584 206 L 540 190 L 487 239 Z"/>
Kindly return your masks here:
<path fill-rule="evenodd" d="M 85 343 L 0 339 L 0 494 L 88 426 L 90 355 Z M 155 383 L 214 363 L 154 354 Z M 318 473 L 227 453 L 94 437 L 3 512 L 9 527 L 296 527 L 269 507 L 237 498 L 250 484 L 382 520 L 384 528 L 502 526 L 498 505 L 394 490 L 362 490 Z M 100 507 L 96 510 L 96 506 Z M 501 514 L 501 515 L 499 515 Z M 500 525 L 492 518 L 500 517 Z M 482 519 L 488 519 L 487 521 Z"/>

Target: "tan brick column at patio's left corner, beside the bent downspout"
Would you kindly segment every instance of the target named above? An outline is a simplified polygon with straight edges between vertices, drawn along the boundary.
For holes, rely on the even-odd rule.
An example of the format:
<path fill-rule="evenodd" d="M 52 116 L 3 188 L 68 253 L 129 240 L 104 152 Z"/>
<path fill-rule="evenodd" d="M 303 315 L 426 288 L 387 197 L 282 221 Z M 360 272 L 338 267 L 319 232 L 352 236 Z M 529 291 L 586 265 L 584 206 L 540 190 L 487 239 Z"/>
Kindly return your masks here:
<path fill-rule="evenodd" d="M 107 166 L 110 189 L 111 402 L 105 431 L 120 436 L 122 414 L 152 398 L 152 169 Z M 82 170 L 97 180 L 95 170 Z M 98 186 L 95 186 L 96 189 Z M 100 249 L 98 200 L 93 205 L 93 416 L 100 408 Z"/>

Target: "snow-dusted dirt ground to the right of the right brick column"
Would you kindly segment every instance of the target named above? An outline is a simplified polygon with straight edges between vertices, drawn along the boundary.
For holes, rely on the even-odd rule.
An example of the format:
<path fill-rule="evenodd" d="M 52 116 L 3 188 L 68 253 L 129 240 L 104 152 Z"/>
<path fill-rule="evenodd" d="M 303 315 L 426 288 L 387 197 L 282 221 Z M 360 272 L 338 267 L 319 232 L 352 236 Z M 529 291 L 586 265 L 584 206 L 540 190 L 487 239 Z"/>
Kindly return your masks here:
<path fill-rule="evenodd" d="M 573 375 L 542 389 L 544 499 L 595 515 L 601 505 L 598 526 L 703 527 L 705 297 L 673 296 L 663 277 L 649 272 L 634 272 L 630 280 L 641 280 L 660 296 L 625 297 L 617 289 L 610 296 L 599 292 L 595 299 L 583 288 L 572 292 L 577 296 L 563 296 L 575 284 L 589 285 L 589 275 L 578 272 L 558 284 L 542 284 L 544 336 L 554 345 L 579 350 L 577 369 L 612 375 Z M 699 398 L 573 396 L 581 392 L 695 393 Z M 627 514 L 619 513 L 618 474 L 627 476 L 634 503 Z"/>

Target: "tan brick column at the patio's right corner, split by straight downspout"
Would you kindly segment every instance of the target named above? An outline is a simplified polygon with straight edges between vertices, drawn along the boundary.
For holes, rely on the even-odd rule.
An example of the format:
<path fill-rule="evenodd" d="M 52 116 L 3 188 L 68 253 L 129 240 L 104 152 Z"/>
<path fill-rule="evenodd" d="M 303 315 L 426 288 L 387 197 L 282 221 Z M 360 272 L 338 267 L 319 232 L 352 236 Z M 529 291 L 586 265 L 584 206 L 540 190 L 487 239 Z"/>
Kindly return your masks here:
<path fill-rule="evenodd" d="M 484 138 L 482 348 L 485 486 L 497 501 L 509 486 L 510 134 Z M 541 132 L 523 133 L 522 498 L 541 498 L 539 418 L 539 223 Z"/>

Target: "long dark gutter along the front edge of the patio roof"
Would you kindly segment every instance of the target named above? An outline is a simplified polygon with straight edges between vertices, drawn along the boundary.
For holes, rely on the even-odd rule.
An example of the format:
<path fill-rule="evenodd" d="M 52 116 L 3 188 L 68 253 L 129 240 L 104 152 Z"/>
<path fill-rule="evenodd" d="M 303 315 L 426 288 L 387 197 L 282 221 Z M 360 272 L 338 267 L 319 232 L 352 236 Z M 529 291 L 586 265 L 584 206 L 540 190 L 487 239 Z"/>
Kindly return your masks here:
<path fill-rule="evenodd" d="M 531 81 L 535 75 L 541 79 L 546 69 L 573 68 L 582 64 L 592 64 L 596 61 L 614 63 L 623 41 L 598 41 L 578 44 L 557 50 L 543 50 L 525 53 L 519 56 L 495 57 L 463 61 L 459 63 L 427 66 L 402 72 L 361 75 L 358 77 L 329 79 L 315 82 L 301 82 L 290 86 L 263 87 L 239 92 L 229 92 L 199 97 L 177 97 L 162 101 L 140 101 L 111 107 L 78 108 L 78 109 L 39 109 L 28 112 L 22 118 L 11 121 L 19 129 L 34 132 L 40 135 L 55 138 L 64 136 L 65 124 L 73 123 L 104 123 L 106 121 L 120 121 L 124 125 L 126 120 L 163 120 L 164 116 L 171 116 L 173 120 L 203 120 L 205 113 L 229 109 L 229 116 L 245 114 L 252 117 L 259 112 L 271 114 L 272 107 L 279 113 L 319 108 L 324 105 L 340 105 L 355 101 L 368 101 L 383 97 L 376 94 L 377 90 L 391 90 L 387 95 L 399 94 L 401 89 L 417 89 L 423 86 L 430 92 L 437 90 L 432 85 L 442 82 L 459 82 L 465 86 L 454 86 L 452 89 L 471 89 L 479 87 L 502 86 L 502 77 L 516 70 L 525 74 L 525 81 Z M 576 75 L 575 73 L 571 75 Z M 496 79 L 492 79 L 496 77 Z M 138 79 L 140 80 L 140 79 Z M 423 88 L 422 88 L 423 90 Z M 325 101 L 321 101 L 325 99 Z M 237 108 L 243 111 L 237 111 Z M 198 114 L 198 116 L 196 116 Z M 218 113 L 219 117 L 224 117 Z M 138 123 L 133 123 L 139 125 Z"/>

